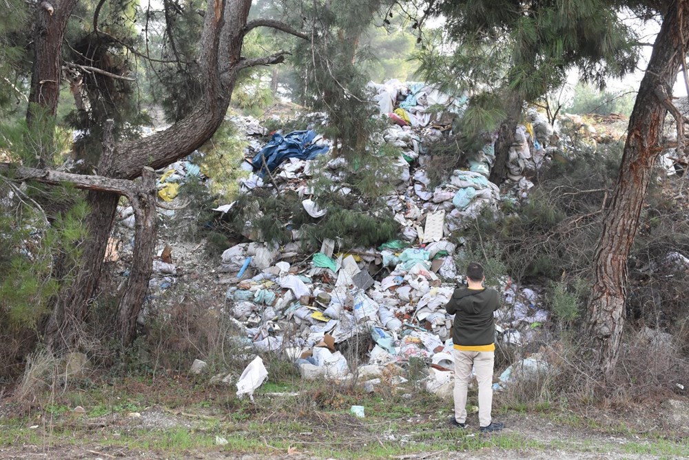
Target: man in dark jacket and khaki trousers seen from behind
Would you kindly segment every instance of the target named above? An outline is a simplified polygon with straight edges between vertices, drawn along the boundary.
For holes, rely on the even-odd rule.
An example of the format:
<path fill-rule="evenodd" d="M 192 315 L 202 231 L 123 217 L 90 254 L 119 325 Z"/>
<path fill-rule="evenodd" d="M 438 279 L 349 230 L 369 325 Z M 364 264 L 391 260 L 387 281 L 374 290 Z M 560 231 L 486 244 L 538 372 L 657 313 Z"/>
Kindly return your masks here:
<path fill-rule="evenodd" d="M 466 288 L 457 288 L 445 306 L 454 314 L 452 343 L 455 357 L 455 426 L 466 425 L 466 392 L 474 368 L 478 382 L 478 419 L 482 432 L 499 431 L 504 423 L 491 419 L 493 408 L 493 360 L 495 358 L 495 321 L 493 312 L 500 307 L 494 289 L 483 287 L 483 267 L 472 262 L 466 267 Z"/>

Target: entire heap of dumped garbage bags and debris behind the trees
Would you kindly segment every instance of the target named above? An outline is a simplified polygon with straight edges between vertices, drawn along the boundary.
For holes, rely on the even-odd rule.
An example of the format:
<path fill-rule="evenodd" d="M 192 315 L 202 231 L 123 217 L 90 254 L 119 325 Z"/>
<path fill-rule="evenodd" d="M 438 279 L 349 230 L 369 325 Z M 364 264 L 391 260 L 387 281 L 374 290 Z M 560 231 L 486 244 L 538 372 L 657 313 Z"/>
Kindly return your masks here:
<path fill-rule="evenodd" d="M 319 252 L 294 263 L 302 252 L 298 231 L 293 231 L 292 243 L 278 247 L 261 241 L 247 222 L 243 234 L 249 242 L 225 250 L 218 269 L 234 280 L 225 294 L 227 313 L 243 330 L 252 349 L 282 353 L 294 361 L 305 379 L 346 380 L 357 375 L 360 380 L 366 377 L 365 388 L 373 390 L 383 374 L 389 375 L 386 370 L 391 366 L 422 359 L 431 364 L 426 388 L 451 394 L 452 317 L 444 305 L 464 277 L 455 266 L 461 242 L 452 242 L 450 237 L 471 225 L 486 207 L 497 210 L 505 199 L 488 180 L 495 139 L 474 157 L 469 170 L 455 170 L 440 186 L 431 188 L 424 169 L 428 159 L 424 142 L 451 130 L 466 98 L 451 98 L 419 83 L 389 81 L 371 87 L 378 90 L 381 113 L 391 119 L 384 142 L 400 150 L 395 161 L 395 193 L 384 197 L 400 223 L 399 239 L 377 248 L 354 249 L 339 248 L 336 241 L 325 240 Z M 318 208 L 311 199 L 309 180 L 313 161 L 319 157 L 327 160 L 328 177 L 333 181 L 342 177 L 347 163 L 342 157 L 329 157 L 332 142 L 309 129 L 274 132 L 264 143 L 266 130 L 256 119 L 234 117 L 233 121 L 247 140 L 242 168 L 248 177 L 240 179 L 240 191 L 251 194 L 263 188 L 279 194 L 292 190 L 303 198 L 302 206 L 313 219 L 323 217 L 327 209 Z M 544 157 L 547 141 L 539 143 L 538 139 L 548 135 L 548 130 L 536 134 L 543 130 L 538 117 L 517 128 L 510 165 L 510 177 L 516 183 L 511 193 L 525 194 L 533 186 L 519 174 L 533 168 L 535 159 Z M 183 181 L 203 179 L 193 157 L 174 163 L 160 174 L 158 195 L 163 201 L 174 200 Z M 232 212 L 234 204 L 215 210 Z M 122 222 L 133 226 L 133 217 L 125 214 L 126 210 L 121 210 Z M 176 274 L 174 264 L 162 257 L 155 263 L 150 294 L 174 283 Z M 496 312 L 499 343 L 531 343 L 539 326 L 548 321 L 539 294 L 513 286 L 508 278 L 499 288 L 504 293 L 504 306 Z M 367 361 L 353 362 L 351 350 L 362 344 Z M 258 364 L 254 363 L 256 372 L 260 370 L 257 382 L 265 379 L 263 364 Z M 403 377 L 395 377 L 396 383 L 402 381 Z M 250 395 L 252 388 L 242 383 L 243 393 Z"/>

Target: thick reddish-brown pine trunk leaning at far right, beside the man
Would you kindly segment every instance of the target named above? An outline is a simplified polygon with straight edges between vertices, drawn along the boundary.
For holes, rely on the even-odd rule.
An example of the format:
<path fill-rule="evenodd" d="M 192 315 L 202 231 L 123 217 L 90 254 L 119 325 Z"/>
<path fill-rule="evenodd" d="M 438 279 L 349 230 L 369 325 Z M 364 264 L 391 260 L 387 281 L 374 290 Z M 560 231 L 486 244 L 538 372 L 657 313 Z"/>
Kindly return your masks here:
<path fill-rule="evenodd" d="M 679 8 L 679 11 L 678 11 Z M 681 20 L 681 22 L 680 22 Z M 595 278 L 588 303 L 586 330 L 597 350 L 601 375 L 609 379 L 619 356 L 624 327 L 627 259 L 639 224 L 639 214 L 658 157 L 666 116 L 666 101 L 689 39 L 689 3 L 672 3 L 653 46 L 644 79 L 629 120 L 627 140 L 613 199 L 603 222 L 594 260 Z"/>

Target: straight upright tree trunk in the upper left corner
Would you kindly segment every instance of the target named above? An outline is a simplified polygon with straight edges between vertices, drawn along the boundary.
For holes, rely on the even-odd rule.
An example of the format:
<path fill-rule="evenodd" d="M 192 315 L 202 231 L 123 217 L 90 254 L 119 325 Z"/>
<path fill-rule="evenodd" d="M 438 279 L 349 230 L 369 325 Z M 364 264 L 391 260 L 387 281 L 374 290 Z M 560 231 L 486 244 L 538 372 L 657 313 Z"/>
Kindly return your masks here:
<path fill-rule="evenodd" d="M 60 97 L 62 41 L 67 21 L 78 0 L 50 0 L 37 4 L 34 19 L 34 62 L 31 72 L 31 89 L 26 122 L 30 128 L 39 128 L 42 135 L 39 168 L 50 165 L 53 154 L 52 139 Z"/>

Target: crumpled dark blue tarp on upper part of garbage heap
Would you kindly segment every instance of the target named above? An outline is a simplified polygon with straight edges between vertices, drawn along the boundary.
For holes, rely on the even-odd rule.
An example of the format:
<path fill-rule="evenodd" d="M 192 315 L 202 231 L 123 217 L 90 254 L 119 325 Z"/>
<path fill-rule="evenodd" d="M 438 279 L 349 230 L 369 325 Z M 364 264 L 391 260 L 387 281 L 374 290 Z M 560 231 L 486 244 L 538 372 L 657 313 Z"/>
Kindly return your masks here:
<path fill-rule="evenodd" d="M 320 154 L 327 153 L 330 146 L 318 146 L 311 143 L 315 137 L 316 132 L 313 130 L 293 131 L 286 136 L 282 136 L 280 132 L 274 133 L 270 142 L 254 157 L 254 171 L 260 170 L 260 176 L 263 177 L 265 166 L 273 172 L 287 159 L 312 160 Z M 263 157 L 265 157 L 265 166 Z"/>

